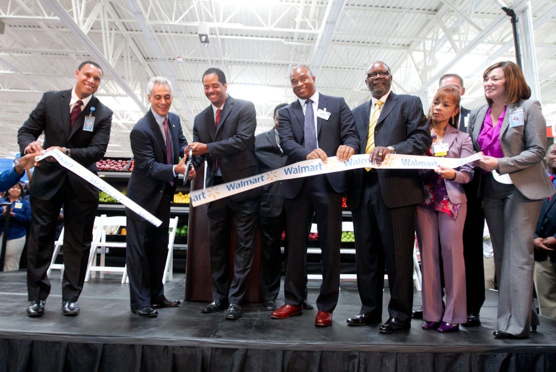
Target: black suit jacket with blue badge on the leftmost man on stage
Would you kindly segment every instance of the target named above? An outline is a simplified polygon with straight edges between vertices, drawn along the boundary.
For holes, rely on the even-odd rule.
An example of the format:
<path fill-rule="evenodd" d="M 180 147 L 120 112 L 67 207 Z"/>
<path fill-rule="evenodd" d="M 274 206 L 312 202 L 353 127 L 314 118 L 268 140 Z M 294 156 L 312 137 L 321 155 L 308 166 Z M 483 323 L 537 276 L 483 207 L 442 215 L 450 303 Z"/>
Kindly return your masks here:
<path fill-rule="evenodd" d="M 44 133 L 43 148 L 60 146 L 71 149 L 71 158 L 92 173 L 97 173 L 96 162 L 101 160 L 106 152 L 110 140 L 112 125 L 112 111 L 103 105 L 94 95 L 77 118 L 72 130 L 69 120 L 69 100 L 71 89 L 68 91 L 46 92 L 37 107 L 29 114 L 17 132 L 19 150 L 23 154 L 27 145 Z M 91 107 L 95 107 L 92 116 L 95 125 L 92 132 L 83 130 L 83 121 L 91 114 Z M 33 172 L 29 193 L 41 200 L 51 199 L 68 177 L 73 189 L 84 200 L 98 199 L 98 189 L 86 182 L 73 172 L 59 165 L 58 162 L 41 162 Z"/>

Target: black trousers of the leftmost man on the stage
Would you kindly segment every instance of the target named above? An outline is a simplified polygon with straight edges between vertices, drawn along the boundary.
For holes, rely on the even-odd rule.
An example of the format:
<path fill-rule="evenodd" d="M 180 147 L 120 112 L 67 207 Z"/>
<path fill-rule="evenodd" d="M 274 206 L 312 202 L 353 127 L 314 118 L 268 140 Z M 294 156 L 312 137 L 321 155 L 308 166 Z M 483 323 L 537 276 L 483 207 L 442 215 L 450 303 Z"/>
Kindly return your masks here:
<path fill-rule="evenodd" d="M 91 249 L 98 199 L 82 200 L 66 178 L 53 198 L 31 197 L 31 231 L 27 244 L 27 291 L 29 301 L 46 300 L 50 281 L 46 275 L 54 251 L 56 224 L 64 206 L 64 274 L 62 300 L 77 301 Z"/>

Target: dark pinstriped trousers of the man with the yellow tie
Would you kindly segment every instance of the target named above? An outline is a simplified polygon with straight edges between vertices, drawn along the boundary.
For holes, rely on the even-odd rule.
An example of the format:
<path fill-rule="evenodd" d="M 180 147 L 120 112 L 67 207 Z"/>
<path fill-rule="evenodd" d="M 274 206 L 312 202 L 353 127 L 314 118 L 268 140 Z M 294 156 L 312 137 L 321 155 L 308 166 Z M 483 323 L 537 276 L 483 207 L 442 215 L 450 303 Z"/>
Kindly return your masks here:
<path fill-rule="evenodd" d="M 361 313 L 381 316 L 384 266 L 390 287 L 389 315 L 411 320 L 415 205 L 388 208 L 376 172 L 366 172 L 359 207 L 353 211 L 355 264 Z"/>

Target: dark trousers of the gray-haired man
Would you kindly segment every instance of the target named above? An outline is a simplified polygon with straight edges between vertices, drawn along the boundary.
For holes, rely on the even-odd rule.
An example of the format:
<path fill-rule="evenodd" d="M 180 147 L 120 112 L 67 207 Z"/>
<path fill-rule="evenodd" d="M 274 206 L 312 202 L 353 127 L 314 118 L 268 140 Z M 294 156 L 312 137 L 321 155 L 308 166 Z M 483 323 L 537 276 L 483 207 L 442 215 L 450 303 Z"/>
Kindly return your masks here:
<path fill-rule="evenodd" d="M 144 219 L 127 217 L 126 265 L 130 278 L 130 307 L 144 308 L 165 299 L 162 277 L 168 255 L 168 225 L 173 190 L 168 184 L 158 209 L 159 227 Z"/>

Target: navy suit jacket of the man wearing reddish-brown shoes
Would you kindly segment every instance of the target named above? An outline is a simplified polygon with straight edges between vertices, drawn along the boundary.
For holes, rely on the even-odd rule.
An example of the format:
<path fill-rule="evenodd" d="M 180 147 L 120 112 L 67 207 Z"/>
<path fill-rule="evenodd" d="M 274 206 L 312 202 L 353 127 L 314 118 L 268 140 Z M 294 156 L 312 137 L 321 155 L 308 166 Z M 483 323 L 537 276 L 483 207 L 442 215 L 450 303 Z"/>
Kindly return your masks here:
<path fill-rule="evenodd" d="M 359 151 L 359 138 L 355 130 L 353 115 L 344 98 L 319 94 L 319 109 L 326 109 L 330 113 L 328 120 L 316 120 L 316 136 L 319 148 L 329 157 L 336 156 L 340 145 L 347 145 Z M 307 160 L 310 151 L 304 147 L 305 115 L 299 99 L 278 111 L 278 132 L 280 145 L 287 154 L 286 165 Z M 327 173 L 326 178 L 337 193 L 345 193 L 349 189 L 349 179 L 346 172 Z M 293 199 L 301 189 L 304 178 L 296 178 L 281 182 L 282 195 Z"/>

